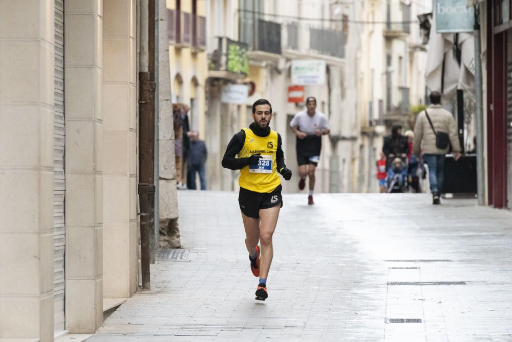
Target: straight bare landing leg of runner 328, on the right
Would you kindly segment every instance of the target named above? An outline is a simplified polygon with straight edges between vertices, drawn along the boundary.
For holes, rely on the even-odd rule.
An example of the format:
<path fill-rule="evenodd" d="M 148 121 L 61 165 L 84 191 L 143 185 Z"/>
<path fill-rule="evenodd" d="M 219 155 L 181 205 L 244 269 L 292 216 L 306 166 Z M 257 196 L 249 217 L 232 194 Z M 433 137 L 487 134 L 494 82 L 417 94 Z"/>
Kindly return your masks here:
<path fill-rule="evenodd" d="M 260 278 L 262 279 L 267 278 L 270 264 L 272 264 L 272 257 L 274 256 L 272 235 L 274 234 L 275 226 L 278 224 L 280 209 L 280 205 L 268 209 L 260 209 Z"/>

